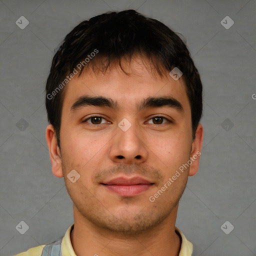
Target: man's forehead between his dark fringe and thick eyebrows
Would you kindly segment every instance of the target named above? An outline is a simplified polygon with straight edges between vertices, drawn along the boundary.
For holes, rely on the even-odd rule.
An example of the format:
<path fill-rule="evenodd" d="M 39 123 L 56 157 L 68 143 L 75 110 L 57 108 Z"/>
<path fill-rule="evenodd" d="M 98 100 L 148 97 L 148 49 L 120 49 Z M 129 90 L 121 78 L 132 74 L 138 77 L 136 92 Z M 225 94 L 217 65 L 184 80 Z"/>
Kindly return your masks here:
<path fill-rule="evenodd" d="M 184 110 L 189 108 L 182 77 L 173 80 L 168 73 L 166 70 L 161 77 L 139 57 L 130 62 L 122 61 L 122 69 L 118 65 L 111 66 L 105 73 L 86 69 L 66 85 L 63 108 L 71 110 L 74 102 L 83 95 L 112 99 L 117 110 L 133 106 L 138 109 L 141 107 L 141 99 L 165 96 L 182 102 Z"/>

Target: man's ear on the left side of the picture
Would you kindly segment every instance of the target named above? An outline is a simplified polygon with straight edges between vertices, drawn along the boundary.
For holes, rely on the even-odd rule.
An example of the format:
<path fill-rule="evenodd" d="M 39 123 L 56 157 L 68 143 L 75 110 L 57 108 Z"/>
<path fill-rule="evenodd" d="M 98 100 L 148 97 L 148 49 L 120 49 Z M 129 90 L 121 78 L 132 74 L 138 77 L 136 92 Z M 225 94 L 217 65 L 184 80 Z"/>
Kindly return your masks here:
<path fill-rule="evenodd" d="M 55 136 L 55 129 L 52 124 L 46 127 L 45 138 L 50 153 L 51 171 L 56 177 L 63 177 L 61 167 L 61 154 L 57 145 L 57 139 Z"/>

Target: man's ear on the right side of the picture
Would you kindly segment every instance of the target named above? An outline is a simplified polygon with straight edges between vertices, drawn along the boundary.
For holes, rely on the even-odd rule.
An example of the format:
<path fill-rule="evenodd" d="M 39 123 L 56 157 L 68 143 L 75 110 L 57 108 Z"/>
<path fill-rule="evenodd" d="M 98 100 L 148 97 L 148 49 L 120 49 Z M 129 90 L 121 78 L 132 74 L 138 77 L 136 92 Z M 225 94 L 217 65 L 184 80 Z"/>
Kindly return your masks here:
<path fill-rule="evenodd" d="M 203 141 L 203 127 L 199 123 L 195 131 L 194 140 L 192 142 L 191 153 L 190 153 L 190 160 L 192 163 L 189 166 L 188 176 L 193 176 L 199 168 L 202 141 Z"/>

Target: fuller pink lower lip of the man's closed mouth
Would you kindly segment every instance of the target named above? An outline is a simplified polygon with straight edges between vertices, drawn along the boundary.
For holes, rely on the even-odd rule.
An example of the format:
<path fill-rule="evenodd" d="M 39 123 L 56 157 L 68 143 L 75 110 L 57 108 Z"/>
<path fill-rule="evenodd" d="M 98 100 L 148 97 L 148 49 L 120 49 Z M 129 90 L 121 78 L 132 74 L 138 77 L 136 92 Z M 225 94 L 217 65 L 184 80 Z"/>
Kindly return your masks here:
<path fill-rule="evenodd" d="M 121 196 L 134 196 L 149 189 L 152 184 L 137 184 L 137 185 L 105 185 L 107 189 Z"/>

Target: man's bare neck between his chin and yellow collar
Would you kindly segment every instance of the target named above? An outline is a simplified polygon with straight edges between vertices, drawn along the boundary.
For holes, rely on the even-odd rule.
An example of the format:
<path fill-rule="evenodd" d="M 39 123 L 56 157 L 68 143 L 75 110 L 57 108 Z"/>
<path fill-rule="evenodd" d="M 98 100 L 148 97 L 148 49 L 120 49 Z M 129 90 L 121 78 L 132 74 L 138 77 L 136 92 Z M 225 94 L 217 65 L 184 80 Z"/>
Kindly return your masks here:
<path fill-rule="evenodd" d="M 74 228 L 70 234 L 77 256 L 178 256 L 181 238 L 175 232 L 177 206 L 156 227 L 136 235 L 102 230 L 74 209 Z"/>

